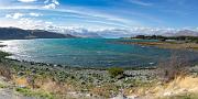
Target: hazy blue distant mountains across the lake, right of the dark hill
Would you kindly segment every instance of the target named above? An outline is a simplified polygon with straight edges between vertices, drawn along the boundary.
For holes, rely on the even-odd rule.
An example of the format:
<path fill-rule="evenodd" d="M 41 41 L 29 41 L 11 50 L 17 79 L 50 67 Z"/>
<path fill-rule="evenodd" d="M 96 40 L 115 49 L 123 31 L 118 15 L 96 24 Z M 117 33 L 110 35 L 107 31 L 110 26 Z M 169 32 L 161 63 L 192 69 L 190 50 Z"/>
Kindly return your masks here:
<path fill-rule="evenodd" d="M 163 35 L 163 36 L 198 36 L 197 31 L 180 30 L 144 30 L 144 31 L 130 31 L 130 30 L 102 30 L 102 31 L 88 31 L 85 29 L 65 30 L 64 33 L 72 34 L 80 37 L 130 37 L 136 35 Z"/>

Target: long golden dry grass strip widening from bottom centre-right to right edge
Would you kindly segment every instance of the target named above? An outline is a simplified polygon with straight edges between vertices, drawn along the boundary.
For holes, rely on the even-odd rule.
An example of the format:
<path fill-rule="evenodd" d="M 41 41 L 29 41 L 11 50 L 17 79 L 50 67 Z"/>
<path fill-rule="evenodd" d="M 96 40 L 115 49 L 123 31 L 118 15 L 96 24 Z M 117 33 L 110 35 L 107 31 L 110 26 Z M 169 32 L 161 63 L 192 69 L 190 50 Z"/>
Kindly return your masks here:
<path fill-rule="evenodd" d="M 142 99 L 173 99 L 169 97 L 185 97 L 186 95 L 190 94 L 198 95 L 198 78 L 191 76 L 179 76 L 165 85 L 155 85 L 153 87 L 139 87 L 133 89 L 127 89 L 124 94 L 127 96 L 139 96 L 142 97 Z"/>

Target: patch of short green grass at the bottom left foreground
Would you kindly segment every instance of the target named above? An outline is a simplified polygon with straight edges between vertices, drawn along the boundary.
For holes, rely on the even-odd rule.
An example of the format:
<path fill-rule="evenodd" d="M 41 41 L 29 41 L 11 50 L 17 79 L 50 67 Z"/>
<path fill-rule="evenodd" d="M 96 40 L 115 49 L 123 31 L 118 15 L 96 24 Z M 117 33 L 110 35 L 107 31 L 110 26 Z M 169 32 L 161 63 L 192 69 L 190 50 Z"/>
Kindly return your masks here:
<path fill-rule="evenodd" d="M 29 97 L 38 97 L 42 99 L 55 99 L 53 95 L 48 92 L 44 92 L 42 90 L 33 90 L 29 88 L 15 88 L 15 91 Z"/>

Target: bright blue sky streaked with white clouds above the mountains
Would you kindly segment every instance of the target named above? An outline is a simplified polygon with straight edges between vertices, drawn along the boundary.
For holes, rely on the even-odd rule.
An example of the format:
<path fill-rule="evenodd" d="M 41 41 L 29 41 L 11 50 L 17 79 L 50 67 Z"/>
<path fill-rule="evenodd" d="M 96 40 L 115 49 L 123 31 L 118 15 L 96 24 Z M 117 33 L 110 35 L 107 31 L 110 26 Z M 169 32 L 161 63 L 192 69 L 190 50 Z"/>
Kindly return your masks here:
<path fill-rule="evenodd" d="M 198 0 L 0 0 L 0 26 L 21 29 L 198 31 L 197 18 Z"/>

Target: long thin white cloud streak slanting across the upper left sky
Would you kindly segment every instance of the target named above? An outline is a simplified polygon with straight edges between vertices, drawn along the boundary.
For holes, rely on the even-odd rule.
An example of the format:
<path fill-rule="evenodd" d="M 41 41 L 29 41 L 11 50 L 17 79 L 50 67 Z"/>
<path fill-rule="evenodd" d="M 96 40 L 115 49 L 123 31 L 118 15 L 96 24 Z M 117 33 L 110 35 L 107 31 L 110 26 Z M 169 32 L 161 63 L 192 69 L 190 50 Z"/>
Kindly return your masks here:
<path fill-rule="evenodd" d="M 50 10 L 50 11 L 55 11 L 55 12 L 64 12 L 64 13 L 74 13 L 74 14 L 80 14 L 78 16 L 84 16 L 85 19 L 88 19 L 88 18 L 95 18 L 95 19 L 100 19 L 100 20 L 105 20 L 106 23 L 107 21 L 108 22 L 118 22 L 118 24 L 122 24 L 122 25 L 125 25 L 125 26 L 129 26 L 129 24 L 132 24 L 132 25 L 141 25 L 140 22 L 136 22 L 135 20 L 129 20 L 129 19 L 123 19 L 123 18 L 120 18 L 120 16 L 116 16 L 116 15 L 111 15 L 111 14 L 108 14 L 108 13 L 100 13 L 100 12 L 97 12 L 95 10 L 89 10 L 89 9 L 85 9 L 85 8 L 68 8 L 68 9 L 56 9 L 57 8 L 57 4 L 58 1 L 57 0 L 45 0 L 45 6 L 44 7 L 7 7 L 7 8 L 1 8 L 0 9 L 19 9 L 19 10 L 29 10 L 29 9 L 37 9 L 37 10 Z M 55 4 L 56 3 L 56 4 Z M 84 11 L 81 11 L 84 10 Z M 61 14 L 62 15 L 62 14 Z M 131 25 L 130 25 L 131 26 Z"/>

